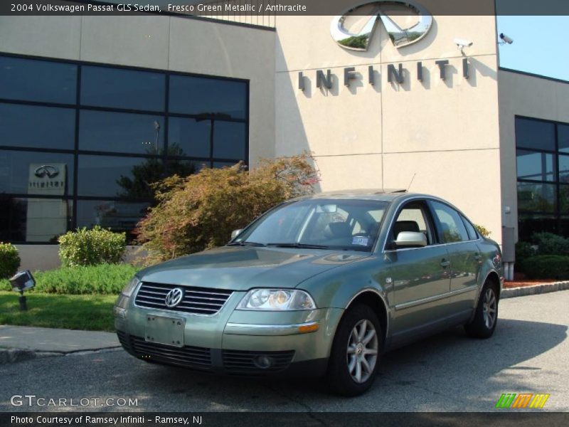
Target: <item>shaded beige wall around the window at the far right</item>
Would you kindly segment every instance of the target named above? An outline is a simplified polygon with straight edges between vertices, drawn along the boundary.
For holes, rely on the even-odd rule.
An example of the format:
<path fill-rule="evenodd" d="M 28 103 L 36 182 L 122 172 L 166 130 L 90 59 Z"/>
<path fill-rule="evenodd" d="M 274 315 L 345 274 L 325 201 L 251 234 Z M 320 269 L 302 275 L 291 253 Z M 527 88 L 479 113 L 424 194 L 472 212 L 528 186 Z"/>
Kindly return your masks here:
<path fill-rule="evenodd" d="M 517 236 L 516 115 L 569 123 L 569 83 L 499 70 L 498 88 L 502 221 Z"/>

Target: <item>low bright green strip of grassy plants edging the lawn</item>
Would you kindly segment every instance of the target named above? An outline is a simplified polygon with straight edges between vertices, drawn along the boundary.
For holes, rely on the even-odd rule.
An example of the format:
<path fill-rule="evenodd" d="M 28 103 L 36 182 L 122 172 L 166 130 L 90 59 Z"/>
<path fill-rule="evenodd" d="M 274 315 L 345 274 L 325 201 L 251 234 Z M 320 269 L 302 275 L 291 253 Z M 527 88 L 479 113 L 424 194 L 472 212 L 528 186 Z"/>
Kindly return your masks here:
<path fill-rule="evenodd" d="M 118 294 L 129 283 L 137 268 L 129 264 L 99 264 L 61 267 L 36 271 L 36 288 L 31 292 L 56 294 Z M 0 281 L 0 290 L 10 290 L 8 280 Z"/>

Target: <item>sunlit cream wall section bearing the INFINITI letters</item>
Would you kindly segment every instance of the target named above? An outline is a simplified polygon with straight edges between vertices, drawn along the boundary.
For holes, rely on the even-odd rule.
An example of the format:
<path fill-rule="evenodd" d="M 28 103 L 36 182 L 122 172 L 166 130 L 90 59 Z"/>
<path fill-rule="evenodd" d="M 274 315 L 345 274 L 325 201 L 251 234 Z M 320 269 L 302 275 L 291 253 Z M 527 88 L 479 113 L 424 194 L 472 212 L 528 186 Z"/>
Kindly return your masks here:
<path fill-rule="evenodd" d="M 329 33 L 332 18 L 277 19 L 275 154 L 312 151 L 324 191 L 407 188 L 413 179 L 410 191 L 442 196 L 500 241 L 494 16 L 434 16 L 425 38 L 399 49 L 378 23 L 367 52 L 339 47 Z M 463 56 L 454 38 L 474 43 Z M 469 79 L 462 76 L 464 57 Z M 435 64 L 440 59 L 449 60 L 446 80 Z M 388 65 L 399 63 L 404 83 L 388 83 Z M 368 83 L 368 65 L 375 85 Z M 344 67 L 351 66 L 356 79 L 346 87 Z M 317 70 L 328 69 L 333 87 L 316 88 Z"/>

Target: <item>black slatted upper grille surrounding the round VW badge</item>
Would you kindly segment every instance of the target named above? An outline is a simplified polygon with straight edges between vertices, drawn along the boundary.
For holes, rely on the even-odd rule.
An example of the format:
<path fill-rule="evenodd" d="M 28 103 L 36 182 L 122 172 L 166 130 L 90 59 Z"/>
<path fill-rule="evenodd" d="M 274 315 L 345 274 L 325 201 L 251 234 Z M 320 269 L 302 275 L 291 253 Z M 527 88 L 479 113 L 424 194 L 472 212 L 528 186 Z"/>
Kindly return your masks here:
<path fill-rule="evenodd" d="M 183 289 L 184 297 L 176 307 L 166 307 L 166 294 L 174 288 Z M 232 293 L 232 290 L 144 282 L 140 286 L 134 303 L 145 308 L 159 308 L 196 315 L 215 315 Z"/>

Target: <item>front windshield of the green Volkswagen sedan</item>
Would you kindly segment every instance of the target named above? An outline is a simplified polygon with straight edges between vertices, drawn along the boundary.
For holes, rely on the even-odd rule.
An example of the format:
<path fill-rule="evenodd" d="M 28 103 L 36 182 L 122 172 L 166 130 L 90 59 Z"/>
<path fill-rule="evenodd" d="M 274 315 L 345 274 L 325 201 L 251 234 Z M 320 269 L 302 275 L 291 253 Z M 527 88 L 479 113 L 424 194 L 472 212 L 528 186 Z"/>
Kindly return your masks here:
<path fill-rule="evenodd" d="M 388 202 L 307 199 L 277 206 L 230 245 L 371 251 Z"/>

